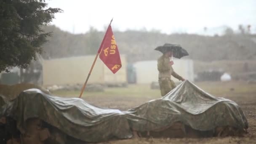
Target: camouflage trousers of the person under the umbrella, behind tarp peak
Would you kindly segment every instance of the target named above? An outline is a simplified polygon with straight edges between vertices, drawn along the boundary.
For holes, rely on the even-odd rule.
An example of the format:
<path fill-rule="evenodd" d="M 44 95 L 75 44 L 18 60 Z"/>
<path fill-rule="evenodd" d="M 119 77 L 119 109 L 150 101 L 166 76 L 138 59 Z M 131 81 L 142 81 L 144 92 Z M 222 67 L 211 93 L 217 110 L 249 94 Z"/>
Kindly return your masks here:
<path fill-rule="evenodd" d="M 176 88 L 175 83 L 171 79 L 159 79 L 158 80 L 160 85 L 161 96 L 165 96 L 169 93 L 173 88 Z"/>

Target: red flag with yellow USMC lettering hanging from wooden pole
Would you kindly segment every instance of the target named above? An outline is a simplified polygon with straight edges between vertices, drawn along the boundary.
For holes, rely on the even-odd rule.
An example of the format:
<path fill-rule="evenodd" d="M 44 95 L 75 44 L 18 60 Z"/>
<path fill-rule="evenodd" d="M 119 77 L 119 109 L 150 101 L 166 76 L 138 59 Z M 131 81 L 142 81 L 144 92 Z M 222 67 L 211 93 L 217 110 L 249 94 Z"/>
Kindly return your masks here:
<path fill-rule="evenodd" d="M 111 25 L 107 28 L 107 32 L 101 42 L 98 50 L 99 58 L 106 66 L 115 74 L 121 67 L 120 54 L 117 48 L 117 43 L 112 32 Z"/>

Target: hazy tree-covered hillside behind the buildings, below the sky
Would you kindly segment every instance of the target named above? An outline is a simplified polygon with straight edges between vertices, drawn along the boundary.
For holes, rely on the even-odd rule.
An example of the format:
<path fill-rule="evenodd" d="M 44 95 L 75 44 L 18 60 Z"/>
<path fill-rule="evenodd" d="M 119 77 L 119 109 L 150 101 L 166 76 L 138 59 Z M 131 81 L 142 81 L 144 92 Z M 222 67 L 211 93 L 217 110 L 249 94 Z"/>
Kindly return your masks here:
<path fill-rule="evenodd" d="M 64 32 L 58 27 L 44 27 L 46 32 L 53 32 L 48 43 L 43 45 L 45 59 L 96 54 L 105 32 L 91 28 L 85 34 L 74 35 Z M 255 60 L 256 36 L 234 34 L 227 28 L 222 36 L 203 36 L 192 34 L 161 34 L 158 31 L 115 31 L 114 35 L 120 53 L 127 55 L 129 62 L 154 60 L 160 56 L 155 51 L 164 43 L 180 44 L 189 56 L 182 59 L 199 61 L 216 60 Z M 253 41 L 254 40 L 254 41 Z"/>

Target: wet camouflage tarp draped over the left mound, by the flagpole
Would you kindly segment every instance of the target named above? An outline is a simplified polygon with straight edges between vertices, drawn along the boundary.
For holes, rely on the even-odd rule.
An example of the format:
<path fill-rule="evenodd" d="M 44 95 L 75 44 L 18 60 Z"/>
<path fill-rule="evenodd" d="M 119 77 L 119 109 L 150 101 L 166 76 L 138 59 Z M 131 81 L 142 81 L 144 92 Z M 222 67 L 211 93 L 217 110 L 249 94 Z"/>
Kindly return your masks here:
<path fill-rule="evenodd" d="M 39 89 L 23 91 L 11 105 L 9 116 L 17 121 L 20 131 L 25 122 L 38 117 L 73 138 L 87 142 L 131 138 L 124 113 L 118 109 L 93 106 L 78 98 L 60 98 Z"/>

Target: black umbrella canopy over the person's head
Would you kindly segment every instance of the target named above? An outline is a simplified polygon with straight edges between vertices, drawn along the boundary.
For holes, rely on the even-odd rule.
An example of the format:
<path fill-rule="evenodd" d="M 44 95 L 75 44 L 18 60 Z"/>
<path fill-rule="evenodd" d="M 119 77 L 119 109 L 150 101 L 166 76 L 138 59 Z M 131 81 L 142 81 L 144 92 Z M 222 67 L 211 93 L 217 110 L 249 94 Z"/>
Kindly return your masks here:
<path fill-rule="evenodd" d="M 180 59 L 183 56 L 188 56 L 189 53 L 181 47 L 181 45 L 175 45 L 170 43 L 165 43 L 163 46 L 158 46 L 155 48 L 156 51 L 165 53 L 166 51 L 173 52 L 173 57 Z"/>

